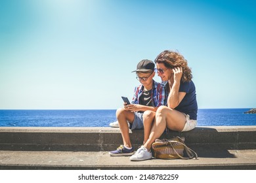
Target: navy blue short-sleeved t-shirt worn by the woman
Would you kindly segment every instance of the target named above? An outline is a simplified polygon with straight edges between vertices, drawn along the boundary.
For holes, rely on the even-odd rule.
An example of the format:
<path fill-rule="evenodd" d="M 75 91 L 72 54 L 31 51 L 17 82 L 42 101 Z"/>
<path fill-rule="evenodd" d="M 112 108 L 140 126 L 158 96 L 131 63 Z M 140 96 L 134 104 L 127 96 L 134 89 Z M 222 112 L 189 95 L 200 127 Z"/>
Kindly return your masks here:
<path fill-rule="evenodd" d="M 190 120 L 197 120 L 198 103 L 196 101 L 196 86 L 192 80 L 190 82 L 181 82 L 179 92 L 186 92 L 181 103 L 175 108 L 190 116 Z"/>

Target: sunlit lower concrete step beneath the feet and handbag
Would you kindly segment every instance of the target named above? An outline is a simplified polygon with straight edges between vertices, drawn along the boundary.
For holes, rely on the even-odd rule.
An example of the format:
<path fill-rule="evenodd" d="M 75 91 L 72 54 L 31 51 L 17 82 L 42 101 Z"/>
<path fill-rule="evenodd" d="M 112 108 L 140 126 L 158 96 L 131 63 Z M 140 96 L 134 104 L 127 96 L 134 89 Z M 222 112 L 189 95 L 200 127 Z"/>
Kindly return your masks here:
<path fill-rule="evenodd" d="M 0 151 L 0 169 L 256 169 L 256 150 L 228 150 L 229 157 L 130 161 L 108 152 Z"/>

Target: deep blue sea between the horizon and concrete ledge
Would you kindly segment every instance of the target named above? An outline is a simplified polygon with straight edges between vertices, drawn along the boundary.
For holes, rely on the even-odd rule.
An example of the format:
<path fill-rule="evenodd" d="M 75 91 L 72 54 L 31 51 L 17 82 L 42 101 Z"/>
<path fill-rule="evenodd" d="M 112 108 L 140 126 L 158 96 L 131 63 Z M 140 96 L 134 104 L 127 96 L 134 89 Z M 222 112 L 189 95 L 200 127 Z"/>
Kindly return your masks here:
<path fill-rule="evenodd" d="M 256 125 L 250 108 L 198 110 L 198 126 Z M 116 110 L 0 110 L 1 127 L 108 127 Z"/>

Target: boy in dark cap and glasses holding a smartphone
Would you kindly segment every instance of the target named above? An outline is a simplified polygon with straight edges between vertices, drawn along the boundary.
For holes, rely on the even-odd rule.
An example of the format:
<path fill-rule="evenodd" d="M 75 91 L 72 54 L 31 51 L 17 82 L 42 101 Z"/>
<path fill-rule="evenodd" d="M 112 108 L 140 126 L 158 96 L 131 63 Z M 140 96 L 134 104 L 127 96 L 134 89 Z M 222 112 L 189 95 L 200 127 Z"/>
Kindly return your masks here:
<path fill-rule="evenodd" d="M 137 65 L 137 79 L 141 83 L 135 88 L 133 101 L 130 105 L 124 103 L 123 108 L 116 111 L 117 121 L 123 138 L 123 145 L 109 152 L 110 156 L 131 156 L 134 149 L 129 137 L 129 128 L 143 129 L 144 142 L 148 140 L 155 112 L 161 105 L 166 105 L 167 92 L 165 86 L 153 80 L 155 64 L 148 59 L 142 59 Z M 133 73 L 132 72 L 132 73 Z M 127 124 L 129 122 L 129 125 Z M 143 143 L 144 143 L 143 142 Z"/>

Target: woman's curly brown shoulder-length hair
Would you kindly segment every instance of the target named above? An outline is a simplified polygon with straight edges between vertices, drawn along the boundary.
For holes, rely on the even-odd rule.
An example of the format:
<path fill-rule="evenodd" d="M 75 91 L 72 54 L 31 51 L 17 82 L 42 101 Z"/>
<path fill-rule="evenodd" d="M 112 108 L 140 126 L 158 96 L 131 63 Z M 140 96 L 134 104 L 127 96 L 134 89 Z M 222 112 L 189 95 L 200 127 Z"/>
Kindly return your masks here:
<path fill-rule="evenodd" d="M 192 80 L 192 71 L 188 67 L 188 61 L 179 54 L 179 52 L 173 52 L 171 50 L 164 50 L 155 59 L 155 63 L 163 63 L 165 67 L 173 69 L 174 67 L 182 67 L 181 82 L 190 82 Z"/>

